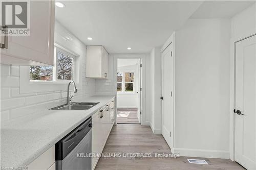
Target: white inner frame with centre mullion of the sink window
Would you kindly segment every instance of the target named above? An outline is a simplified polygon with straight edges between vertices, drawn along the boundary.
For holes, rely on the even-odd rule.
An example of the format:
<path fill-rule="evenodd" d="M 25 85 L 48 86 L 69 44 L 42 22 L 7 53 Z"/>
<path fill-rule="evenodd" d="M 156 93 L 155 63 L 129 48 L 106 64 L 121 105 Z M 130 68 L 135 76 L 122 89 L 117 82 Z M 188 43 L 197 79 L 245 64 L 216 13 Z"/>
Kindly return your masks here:
<path fill-rule="evenodd" d="M 57 45 L 54 45 L 54 65 L 52 66 L 52 80 L 50 81 L 44 81 L 44 80 L 29 80 L 32 83 L 68 83 L 71 80 L 61 80 L 58 79 L 58 59 L 57 59 L 57 53 L 61 52 L 69 57 L 72 58 L 72 75 L 71 75 L 71 80 L 74 81 L 75 79 L 75 66 L 76 66 L 76 56 L 69 53 L 66 50 L 61 49 Z"/>

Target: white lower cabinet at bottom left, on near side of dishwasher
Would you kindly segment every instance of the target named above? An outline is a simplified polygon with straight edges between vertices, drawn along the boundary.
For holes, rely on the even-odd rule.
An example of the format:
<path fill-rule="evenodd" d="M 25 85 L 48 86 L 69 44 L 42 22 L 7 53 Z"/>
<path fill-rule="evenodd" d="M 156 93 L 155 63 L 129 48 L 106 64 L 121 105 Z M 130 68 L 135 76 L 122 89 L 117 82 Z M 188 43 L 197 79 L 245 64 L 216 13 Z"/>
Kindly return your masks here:
<path fill-rule="evenodd" d="M 55 169 L 55 145 L 28 165 L 28 170 Z"/>

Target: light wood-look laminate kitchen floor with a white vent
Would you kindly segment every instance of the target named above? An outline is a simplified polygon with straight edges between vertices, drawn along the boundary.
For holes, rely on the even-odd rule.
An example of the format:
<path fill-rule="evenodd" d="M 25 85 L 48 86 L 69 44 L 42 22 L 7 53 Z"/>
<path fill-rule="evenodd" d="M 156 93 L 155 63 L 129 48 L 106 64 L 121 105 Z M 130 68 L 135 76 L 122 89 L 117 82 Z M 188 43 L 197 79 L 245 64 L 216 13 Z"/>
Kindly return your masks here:
<path fill-rule="evenodd" d="M 148 126 L 118 124 L 114 126 L 103 153 L 170 153 L 170 149 L 162 135 L 153 134 Z M 191 157 L 179 158 L 120 158 L 102 157 L 96 170 L 108 169 L 174 169 L 174 170 L 239 170 L 244 169 L 229 159 L 205 159 L 209 165 L 190 164 L 186 160 Z"/>

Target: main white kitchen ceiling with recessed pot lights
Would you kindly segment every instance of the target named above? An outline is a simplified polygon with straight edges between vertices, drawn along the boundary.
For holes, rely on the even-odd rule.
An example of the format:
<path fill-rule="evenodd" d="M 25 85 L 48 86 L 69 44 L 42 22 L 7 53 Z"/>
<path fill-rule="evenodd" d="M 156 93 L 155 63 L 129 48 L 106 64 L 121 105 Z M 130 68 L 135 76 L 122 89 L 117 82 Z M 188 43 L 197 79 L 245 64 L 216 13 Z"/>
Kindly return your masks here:
<path fill-rule="evenodd" d="M 61 1 L 56 19 L 86 45 L 109 53 L 149 53 L 195 12 L 200 1 Z M 93 40 L 87 40 L 92 37 Z M 127 50 L 131 46 L 132 50 Z"/>

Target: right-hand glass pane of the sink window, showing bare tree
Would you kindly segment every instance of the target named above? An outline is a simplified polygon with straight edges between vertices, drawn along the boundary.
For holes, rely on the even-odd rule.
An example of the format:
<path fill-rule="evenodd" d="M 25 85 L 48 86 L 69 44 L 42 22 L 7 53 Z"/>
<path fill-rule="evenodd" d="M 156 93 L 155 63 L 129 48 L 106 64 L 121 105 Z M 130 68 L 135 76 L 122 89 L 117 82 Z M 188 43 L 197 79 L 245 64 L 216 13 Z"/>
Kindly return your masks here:
<path fill-rule="evenodd" d="M 68 55 L 57 52 L 58 57 L 58 79 L 72 80 L 73 58 Z"/>

